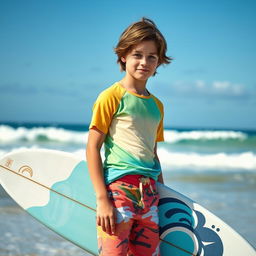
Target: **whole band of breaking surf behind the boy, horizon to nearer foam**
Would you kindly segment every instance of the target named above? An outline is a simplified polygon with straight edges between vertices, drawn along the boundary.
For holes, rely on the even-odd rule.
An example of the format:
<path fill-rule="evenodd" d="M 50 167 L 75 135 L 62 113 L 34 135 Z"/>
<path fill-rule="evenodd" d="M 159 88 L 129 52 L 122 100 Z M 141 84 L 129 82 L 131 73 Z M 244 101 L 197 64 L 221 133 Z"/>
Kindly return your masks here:
<path fill-rule="evenodd" d="M 1 124 L 0 155 L 24 147 L 55 148 L 84 157 L 86 125 Z M 166 129 L 159 144 L 164 170 L 256 172 L 256 132 Z"/>

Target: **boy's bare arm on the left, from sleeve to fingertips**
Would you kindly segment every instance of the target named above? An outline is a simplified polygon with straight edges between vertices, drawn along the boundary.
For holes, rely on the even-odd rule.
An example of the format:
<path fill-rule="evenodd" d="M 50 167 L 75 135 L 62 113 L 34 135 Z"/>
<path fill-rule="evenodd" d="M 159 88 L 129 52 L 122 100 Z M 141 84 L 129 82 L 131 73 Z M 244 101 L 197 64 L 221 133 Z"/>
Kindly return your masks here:
<path fill-rule="evenodd" d="M 100 155 L 100 149 L 105 137 L 106 135 L 97 128 L 93 127 L 90 129 L 86 147 L 86 157 L 90 177 L 96 192 L 97 224 L 108 234 L 114 234 L 115 212 L 108 198 Z"/>

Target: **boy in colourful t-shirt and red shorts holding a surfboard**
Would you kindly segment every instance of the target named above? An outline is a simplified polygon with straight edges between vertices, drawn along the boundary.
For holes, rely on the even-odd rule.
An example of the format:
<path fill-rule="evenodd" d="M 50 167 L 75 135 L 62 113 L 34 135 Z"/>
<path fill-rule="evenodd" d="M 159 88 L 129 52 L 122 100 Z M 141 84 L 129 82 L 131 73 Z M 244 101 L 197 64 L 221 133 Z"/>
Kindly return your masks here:
<path fill-rule="evenodd" d="M 100 255 L 159 255 L 156 181 L 163 183 L 163 177 L 157 142 L 164 139 L 163 105 L 146 83 L 157 67 L 170 63 L 166 51 L 153 21 L 143 18 L 130 25 L 115 48 L 125 76 L 94 104 L 86 152 Z"/>

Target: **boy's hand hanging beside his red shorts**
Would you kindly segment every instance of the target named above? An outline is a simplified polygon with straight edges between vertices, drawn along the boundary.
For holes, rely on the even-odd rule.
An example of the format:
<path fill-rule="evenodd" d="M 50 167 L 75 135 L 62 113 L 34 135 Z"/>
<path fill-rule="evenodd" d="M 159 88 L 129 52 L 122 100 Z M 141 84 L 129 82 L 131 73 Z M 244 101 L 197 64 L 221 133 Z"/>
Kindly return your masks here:
<path fill-rule="evenodd" d="M 116 214 L 111 201 L 107 199 L 97 200 L 97 225 L 109 235 L 115 234 Z"/>

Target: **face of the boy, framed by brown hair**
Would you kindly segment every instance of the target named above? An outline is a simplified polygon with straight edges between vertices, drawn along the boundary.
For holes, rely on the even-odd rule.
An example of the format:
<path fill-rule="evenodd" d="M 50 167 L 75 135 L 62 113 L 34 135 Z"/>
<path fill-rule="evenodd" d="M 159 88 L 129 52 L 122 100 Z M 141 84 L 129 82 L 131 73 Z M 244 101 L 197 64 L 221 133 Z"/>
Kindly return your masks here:
<path fill-rule="evenodd" d="M 147 80 L 158 66 L 159 57 L 154 41 L 142 41 L 121 58 L 126 65 L 126 74 L 135 80 Z"/>

